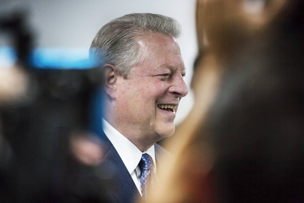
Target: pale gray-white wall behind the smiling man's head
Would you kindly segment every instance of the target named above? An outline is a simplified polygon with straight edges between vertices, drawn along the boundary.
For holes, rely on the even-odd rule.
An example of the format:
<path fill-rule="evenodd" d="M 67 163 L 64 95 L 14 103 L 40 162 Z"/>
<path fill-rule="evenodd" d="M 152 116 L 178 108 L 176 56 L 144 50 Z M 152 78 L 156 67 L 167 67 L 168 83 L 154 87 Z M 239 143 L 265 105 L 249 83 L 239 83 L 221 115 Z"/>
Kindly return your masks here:
<path fill-rule="evenodd" d="M 0 12 L 16 8 L 29 11 L 29 23 L 39 47 L 89 49 L 95 34 L 105 23 L 128 13 L 151 12 L 177 19 L 182 28 L 177 41 L 186 66 L 189 94 L 180 102 L 175 124 L 192 108 L 190 80 L 197 54 L 195 0 L 0 0 Z"/>

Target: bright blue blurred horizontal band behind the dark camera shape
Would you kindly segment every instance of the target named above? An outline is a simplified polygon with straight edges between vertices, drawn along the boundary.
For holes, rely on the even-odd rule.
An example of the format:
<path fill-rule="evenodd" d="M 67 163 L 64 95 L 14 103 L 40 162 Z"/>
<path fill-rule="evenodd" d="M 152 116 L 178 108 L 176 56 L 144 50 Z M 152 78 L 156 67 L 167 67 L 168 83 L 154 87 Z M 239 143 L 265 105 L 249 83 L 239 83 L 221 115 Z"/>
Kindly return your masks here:
<path fill-rule="evenodd" d="M 0 66 L 10 67 L 17 61 L 12 47 L 0 47 Z M 84 48 L 36 48 L 29 55 L 29 65 L 46 69 L 88 69 L 98 66 L 97 61 L 88 59 Z"/>

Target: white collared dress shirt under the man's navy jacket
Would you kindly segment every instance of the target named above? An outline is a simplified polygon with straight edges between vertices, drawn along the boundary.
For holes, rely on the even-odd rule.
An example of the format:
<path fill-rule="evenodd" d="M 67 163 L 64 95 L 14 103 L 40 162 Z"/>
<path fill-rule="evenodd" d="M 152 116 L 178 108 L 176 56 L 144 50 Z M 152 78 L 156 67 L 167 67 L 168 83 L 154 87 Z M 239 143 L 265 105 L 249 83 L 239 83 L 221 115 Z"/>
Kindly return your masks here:
<path fill-rule="evenodd" d="M 110 142 L 112 142 L 112 145 L 115 147 L 120 158 L 123 160 L 123 163 L 129 171 L 140 195 L 142 195 L 140 187 L 140 169 L 138 163 L 141 156 L 147 153 L 152 158 L 153 171 L 154 173 L 156 172 L 154 145 L 152 145 L 147 151 L 141 152 L 128 138 L 123 136 L 103 118 L 102 125 L 105 135 L 109 138 Z"/>

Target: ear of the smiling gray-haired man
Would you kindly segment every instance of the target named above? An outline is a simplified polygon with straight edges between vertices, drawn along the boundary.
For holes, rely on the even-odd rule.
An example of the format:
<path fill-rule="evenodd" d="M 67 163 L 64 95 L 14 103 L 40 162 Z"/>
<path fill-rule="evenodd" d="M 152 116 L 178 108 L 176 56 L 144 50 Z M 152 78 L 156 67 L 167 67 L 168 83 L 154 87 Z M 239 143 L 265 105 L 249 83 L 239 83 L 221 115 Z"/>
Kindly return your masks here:
<path fill-rule="evenodd" d="M 116 99 L 116 80 L 117 80 L 117 72 L 115 70 L 115 66 L 112 64 L 105 64 L 102 66 L 104 73 L 104 89 L 105 93 L 111 97 L 113 100 Z"/>

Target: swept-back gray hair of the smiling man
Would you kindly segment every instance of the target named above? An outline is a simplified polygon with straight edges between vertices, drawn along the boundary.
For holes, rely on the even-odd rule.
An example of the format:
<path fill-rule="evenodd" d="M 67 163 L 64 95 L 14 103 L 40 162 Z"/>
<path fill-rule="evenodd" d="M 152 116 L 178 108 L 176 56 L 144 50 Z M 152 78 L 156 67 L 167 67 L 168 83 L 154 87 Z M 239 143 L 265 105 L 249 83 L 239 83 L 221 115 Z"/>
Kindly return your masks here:
<path fill-rule="evenodd" d="M 140 61 L 136 39 L 150 34 L 176 38 L 181 34 L 181 26 L 175 19 L 159 14 L 127 14 L 102 26 L 91 44 L 90 58 L 114 65 L 126 79 L 131 66 Z"/>

